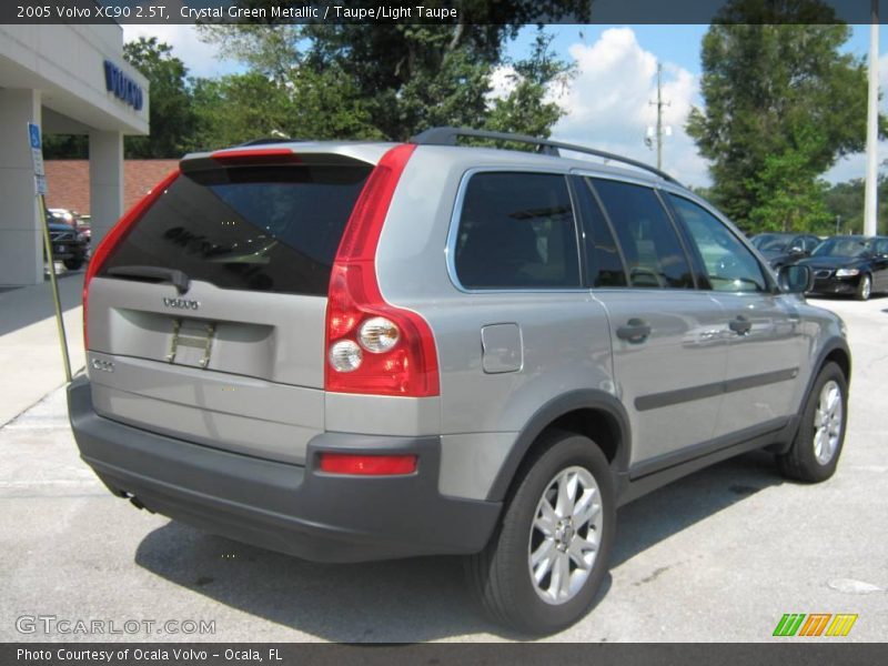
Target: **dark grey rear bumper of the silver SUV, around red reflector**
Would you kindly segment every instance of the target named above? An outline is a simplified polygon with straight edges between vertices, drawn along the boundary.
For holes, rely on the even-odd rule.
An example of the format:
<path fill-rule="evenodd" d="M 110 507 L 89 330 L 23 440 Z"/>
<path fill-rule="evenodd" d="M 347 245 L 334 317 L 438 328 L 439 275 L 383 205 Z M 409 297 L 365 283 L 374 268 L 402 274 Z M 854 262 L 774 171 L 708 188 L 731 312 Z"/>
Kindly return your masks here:
<path fill-rule="evenodd" d="M 99 416 L 87 377 L 68 389 L 83 461 L 117 495 L 230 538 L 316 562 L 468 554 L 487 543 L 501 504 L 437 491 L 440 437 L 324 433 L 306 465 L 220 451 Z M 357 477 L 317 470 L 321 451 L 418 456 L 415 474 Z"/>

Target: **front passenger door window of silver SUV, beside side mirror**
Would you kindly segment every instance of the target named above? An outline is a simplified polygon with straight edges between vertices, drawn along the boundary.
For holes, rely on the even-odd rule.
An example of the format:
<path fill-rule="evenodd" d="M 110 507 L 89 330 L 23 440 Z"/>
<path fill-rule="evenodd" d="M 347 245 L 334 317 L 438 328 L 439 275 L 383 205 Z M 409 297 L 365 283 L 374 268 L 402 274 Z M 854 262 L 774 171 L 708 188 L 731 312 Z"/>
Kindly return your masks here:
<path fill-rule="evenodd" d="M 758 261 L 720 220 L 687 199 L 669 194 L 669 200 L 700 253 L 713 290 L 767 291 Z"/>

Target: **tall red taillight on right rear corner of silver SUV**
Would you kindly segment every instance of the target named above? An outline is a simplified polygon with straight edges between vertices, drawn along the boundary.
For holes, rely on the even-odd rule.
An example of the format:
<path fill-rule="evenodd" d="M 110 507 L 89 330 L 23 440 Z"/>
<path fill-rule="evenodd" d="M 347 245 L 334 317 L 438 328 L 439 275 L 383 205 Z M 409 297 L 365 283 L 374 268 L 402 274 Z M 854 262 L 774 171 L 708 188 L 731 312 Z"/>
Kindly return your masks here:
<path fill-rule="evenodd" d="M 370 174 L 342 236 L 326 306 L 327 357 L 324 389 L 339 393 L 423 397 L 438 394 L 435 339 L 426 321 L 410 310 L 386 303 L 376 280 L 376 246 L 401 173 L 415 150 L 390 150 Z M 359 330 L 374 317 L 394 325 L 397 342 L 382 352 L 361 353 L 356 367 L 340 372 L 329 354 L 340 342 L 360 342 Z M 339 349 L 341 349 L 340 345 Z"/>

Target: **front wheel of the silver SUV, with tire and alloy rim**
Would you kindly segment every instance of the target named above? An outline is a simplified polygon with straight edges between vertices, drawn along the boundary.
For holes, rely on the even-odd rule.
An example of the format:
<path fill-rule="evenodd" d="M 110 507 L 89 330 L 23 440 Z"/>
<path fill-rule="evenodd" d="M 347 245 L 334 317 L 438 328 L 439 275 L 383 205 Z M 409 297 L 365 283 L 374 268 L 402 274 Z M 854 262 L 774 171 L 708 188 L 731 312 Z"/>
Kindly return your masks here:
<path fill-rule="evenodd" d="M 804 483 L 826 481 L 836 472 L 848 421 L 848 382 L 841 369 L 827 363 L 805 402 L 796 438 L 777 456 L 787 478 Z"/>

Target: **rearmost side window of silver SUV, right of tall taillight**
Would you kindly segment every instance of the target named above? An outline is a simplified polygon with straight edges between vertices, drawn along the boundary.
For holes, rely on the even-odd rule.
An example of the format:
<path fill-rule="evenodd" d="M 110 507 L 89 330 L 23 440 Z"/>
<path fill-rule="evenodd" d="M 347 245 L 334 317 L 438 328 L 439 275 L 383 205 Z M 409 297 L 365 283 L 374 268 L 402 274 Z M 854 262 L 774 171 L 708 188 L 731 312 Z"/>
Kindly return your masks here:
<path fill-rule="evenodd" d="M 467 289 L 579 287 L 576 226 L 565 176 L 476 173 L 454 254 Z"/>

